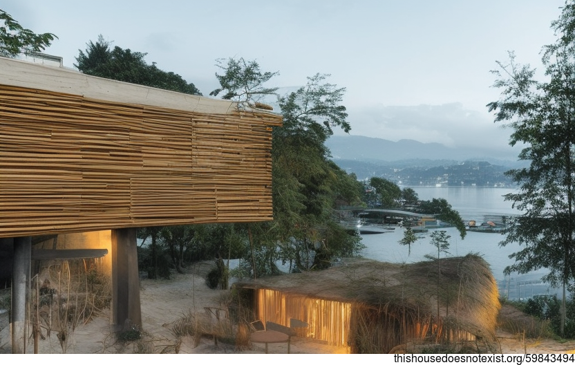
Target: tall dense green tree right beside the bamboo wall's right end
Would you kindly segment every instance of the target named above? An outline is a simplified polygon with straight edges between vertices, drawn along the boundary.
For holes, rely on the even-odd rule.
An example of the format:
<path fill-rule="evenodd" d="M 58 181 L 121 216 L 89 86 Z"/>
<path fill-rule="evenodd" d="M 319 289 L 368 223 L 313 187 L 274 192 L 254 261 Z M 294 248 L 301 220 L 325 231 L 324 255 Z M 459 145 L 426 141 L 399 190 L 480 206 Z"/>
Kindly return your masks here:
<path fill-rule="evenodd" d="M 296 266 L 305 270 L 302 255 L 311 252 L 311 268 L 327 268 L 333 256 L 359 253 L 358 236 L 346 234 L 334 222 L 332 209 L 338 198 L 359 194 L 358 186 L 330 159 L 325 145 L 333 128 L 350 131 L 346 107 L 341 105 L 345 88 L 326 82 L 317 73 L 297 91 L 279 97 L 283 127 L 274 129 L 274 219 L 283 242 L 291 242 Z M 276 183 L 277 182 L 277 183 Z M 276 189 L 277 187 L 277 189 Z M 291 189 L 291 201 L 280 196 Z M 276 203 L 277 202 L 277 203 Z M 284 204 L 287 203 L 287 204 Z M 295 223 L 295 225 L 291 225 Z M 294 238 L 294 239 L 292 239 Z"/>

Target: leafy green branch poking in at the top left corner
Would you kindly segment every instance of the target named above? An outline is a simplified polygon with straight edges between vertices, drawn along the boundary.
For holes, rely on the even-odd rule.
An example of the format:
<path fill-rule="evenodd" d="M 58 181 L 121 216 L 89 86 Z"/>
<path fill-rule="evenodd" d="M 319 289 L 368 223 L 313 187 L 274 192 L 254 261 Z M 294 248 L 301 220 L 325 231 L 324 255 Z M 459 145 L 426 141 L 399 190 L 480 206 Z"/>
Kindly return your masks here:
<path fill-rule="evenodd" d="M 18 21 L 0 9 L 0 56 L 16 57 L 21 53 L 28 55 L 41 52 L 52 44 L 54 38 L 58 37 L 52 33 L 36 34 L 23 28 Z"/>

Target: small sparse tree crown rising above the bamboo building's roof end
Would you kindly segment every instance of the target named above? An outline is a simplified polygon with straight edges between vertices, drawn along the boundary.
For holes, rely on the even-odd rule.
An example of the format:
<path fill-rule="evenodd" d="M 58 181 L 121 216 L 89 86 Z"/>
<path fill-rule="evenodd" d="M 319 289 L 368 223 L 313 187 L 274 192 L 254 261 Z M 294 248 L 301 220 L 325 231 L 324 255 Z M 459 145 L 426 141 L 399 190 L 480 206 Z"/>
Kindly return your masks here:
<path fill-rule="evenodd" d="M 220 93 L 225 92 L 222 99 L 234 100 L 236 102 L 253 104 L 258 100 L 258 97 L 263 95 L 275 95 L 278 88 L 266 88 L 263 86 L 272 77 L 279 75 L 279 72 L 264 72 L 260 71 L 260 66 L 256 61 L 245 61 L 245 59 L 227 59 L 227 64 L 224 64 L 223 59 L 216 60 L 219 68 L 224 73 L 218 75 L 216 78 L 220 82 L 220 87 L 211 91 L 209 95 L 218 96 Z"/>

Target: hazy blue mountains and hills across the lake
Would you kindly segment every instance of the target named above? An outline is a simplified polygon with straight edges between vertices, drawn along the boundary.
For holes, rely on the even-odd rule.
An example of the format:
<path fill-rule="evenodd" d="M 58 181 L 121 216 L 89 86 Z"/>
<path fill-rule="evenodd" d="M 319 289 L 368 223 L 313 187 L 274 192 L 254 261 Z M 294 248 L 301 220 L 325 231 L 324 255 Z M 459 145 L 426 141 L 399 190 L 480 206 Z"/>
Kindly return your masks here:
<path fill-rule="evenodd" d="M 406 186 L 509 187 L 513 182 L 505 171 L 526 165 L 489 156 L 485 150 L 453 149 L 415 140 L 336 135 L 326 146 L 334 162 L 359 180 L 378 176 Z"/>

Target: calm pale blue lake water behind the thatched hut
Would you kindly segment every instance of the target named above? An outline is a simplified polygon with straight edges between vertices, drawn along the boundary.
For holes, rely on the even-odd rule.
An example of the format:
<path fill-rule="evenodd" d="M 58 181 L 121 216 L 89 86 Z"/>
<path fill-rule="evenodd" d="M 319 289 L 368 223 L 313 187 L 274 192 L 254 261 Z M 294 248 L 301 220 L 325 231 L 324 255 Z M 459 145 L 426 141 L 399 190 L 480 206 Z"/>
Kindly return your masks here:
<path fill-rule="evenodd" d="M 475 220 L 478 223 L 484 221 L 487 215 L 511 215 L 519 214 L 511 207 L 511 202 L 505 201 L 503 195 L 513 192 L 513 189 L 485 188 L 485 187 L 412 187 L 417 192 L 420 200 L 433 198 L 446 199 L 453 209 L 460 212 L 464 221 Z M 462 240 L 458 230 L 446 228 L 449 239 L 451 256 L 464 256 L 468 253 L 479 254 L 489 263 L 493 276 L 498 281 L 500 294 L 509 299 L 526 299 L 534 295 L 557 294 L 558 288 L 550 288 L 541 282 L 541 277 L 547 270 L 538 270 L 529 274 L 511 274 L 506 276 L 503 270 L 513 264 L 509 254 L 520 250 L 516 243 L 500 247 L 499 243 L 505 239 L 502 234 L 467 232 Z M 418 234 L 421 238 L 411 246 L 411 254 L 408 247 L 399 245 L 403 238 L 404 229 L 395 227 L 395 230 L 383 234 L 364 234 L 362 242 L 366 248 L 362 255 L 367 259 L 388 261 L 394 263 L 411 263 L 426 260 L 426 255 L 437 256 L 437 248 L 431 245 L 430 234 Z M 442 254 L 444 257 L 444 254 Z"/>

